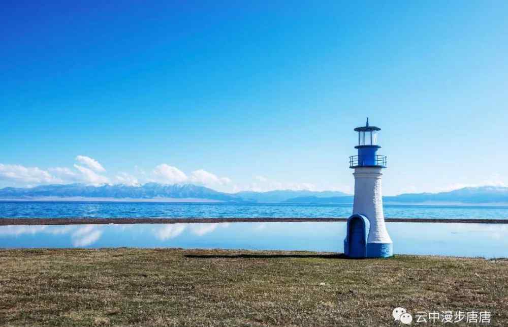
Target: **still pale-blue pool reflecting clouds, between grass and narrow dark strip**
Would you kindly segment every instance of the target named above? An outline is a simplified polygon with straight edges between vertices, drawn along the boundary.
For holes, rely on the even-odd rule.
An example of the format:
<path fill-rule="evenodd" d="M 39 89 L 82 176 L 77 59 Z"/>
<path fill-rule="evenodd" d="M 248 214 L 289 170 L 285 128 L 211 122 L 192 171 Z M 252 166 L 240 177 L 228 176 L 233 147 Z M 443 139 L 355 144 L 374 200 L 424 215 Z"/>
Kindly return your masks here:
<path fill-rule="evenodd" d="M 396 254 L 508 257 L 508 225 L 387 223 Z M 178 247 L 343 251 L 345 223 L 0 226 L 3 248 Z"/>

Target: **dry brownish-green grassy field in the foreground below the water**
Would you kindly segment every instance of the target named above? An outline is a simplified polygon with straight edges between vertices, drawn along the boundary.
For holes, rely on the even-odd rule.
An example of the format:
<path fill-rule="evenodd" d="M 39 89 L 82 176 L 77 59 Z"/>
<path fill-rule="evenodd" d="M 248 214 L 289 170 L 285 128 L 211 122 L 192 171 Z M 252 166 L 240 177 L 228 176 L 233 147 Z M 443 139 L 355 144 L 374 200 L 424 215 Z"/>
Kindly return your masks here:
<path fill-rule="evenodd" d="M 0 324 L 7 326 L 394 326 L 402 325 L 391 315 L 398 306 L 412 314 L 487 310 L 488 325 L 506 326 L 508 261 L 409 255 L 351 260 L 283 251 L 0 250 Z"/>

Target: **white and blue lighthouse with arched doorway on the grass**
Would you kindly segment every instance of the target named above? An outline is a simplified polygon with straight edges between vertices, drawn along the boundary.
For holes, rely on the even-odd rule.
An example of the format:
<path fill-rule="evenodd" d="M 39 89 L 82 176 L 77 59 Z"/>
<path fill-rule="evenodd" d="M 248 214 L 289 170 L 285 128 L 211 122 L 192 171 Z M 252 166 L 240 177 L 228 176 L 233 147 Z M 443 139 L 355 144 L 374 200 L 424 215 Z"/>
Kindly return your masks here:
<path fill-rule="evenodd" d="M 382 169 L 386 156 L 377 154 L 377 133 L 381 129 L 369 126 L 355 128 L 358 132 L 358 155 L 350 157 L 355 172 L 353 215 L 347 219 L 344 254 L 352 258 L 382 258 L 393 255 L 393 243 L 388 235 L 383 214 L 381 192 Z"/>

